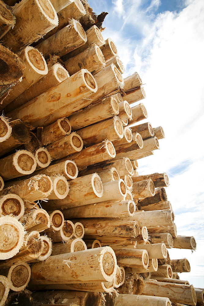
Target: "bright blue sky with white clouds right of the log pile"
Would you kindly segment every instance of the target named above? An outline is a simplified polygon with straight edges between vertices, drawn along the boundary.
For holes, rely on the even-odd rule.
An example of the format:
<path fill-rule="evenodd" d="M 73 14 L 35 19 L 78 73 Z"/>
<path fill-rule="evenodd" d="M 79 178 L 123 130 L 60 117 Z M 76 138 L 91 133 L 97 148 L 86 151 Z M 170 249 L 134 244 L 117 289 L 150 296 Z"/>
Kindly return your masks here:
<path fill-rule="evenodd" d="M 180 274 L 204 288 L 204 1 L 88 0 L 124 64 L 124 78 L 139 73 L 153 127 L 162 126 L 160 150 L 139 160 L 138 172 L 169 175 L 168 200 L 177 233 L 194 236 L 197 249 L 170 249 L 171 259 L 187 258 L 190 273 Z M 136 103 L 138 104 L 138 103 Z"/>

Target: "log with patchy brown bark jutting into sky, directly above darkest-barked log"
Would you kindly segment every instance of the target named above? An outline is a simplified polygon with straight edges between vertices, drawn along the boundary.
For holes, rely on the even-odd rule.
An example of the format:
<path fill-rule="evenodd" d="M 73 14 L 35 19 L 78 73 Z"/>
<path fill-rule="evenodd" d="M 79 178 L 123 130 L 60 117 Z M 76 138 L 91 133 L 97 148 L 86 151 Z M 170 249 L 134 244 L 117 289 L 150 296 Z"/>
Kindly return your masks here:
<path fill-rule="evenodd" d="M 169 186 L 169 177 L 166 173 L 153 173 L 147 175 L 139 175 L 137 177 L 133 177 L 133 182 L 143 181 L 147 179 L 151 179 L 154 183 L 154 187 L 168 187 Z"/>

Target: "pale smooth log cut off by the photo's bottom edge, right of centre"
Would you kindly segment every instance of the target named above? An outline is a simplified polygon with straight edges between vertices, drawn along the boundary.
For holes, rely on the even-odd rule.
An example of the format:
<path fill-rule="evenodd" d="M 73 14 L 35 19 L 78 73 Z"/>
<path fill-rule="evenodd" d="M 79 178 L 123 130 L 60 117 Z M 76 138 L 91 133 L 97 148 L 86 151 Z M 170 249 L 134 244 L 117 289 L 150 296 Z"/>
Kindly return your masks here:
<path fill-rule="evenodd" d="M 116 306 L 171 306 L 168 297 L 148 297 L 145 295 L 119 294 Z"/>

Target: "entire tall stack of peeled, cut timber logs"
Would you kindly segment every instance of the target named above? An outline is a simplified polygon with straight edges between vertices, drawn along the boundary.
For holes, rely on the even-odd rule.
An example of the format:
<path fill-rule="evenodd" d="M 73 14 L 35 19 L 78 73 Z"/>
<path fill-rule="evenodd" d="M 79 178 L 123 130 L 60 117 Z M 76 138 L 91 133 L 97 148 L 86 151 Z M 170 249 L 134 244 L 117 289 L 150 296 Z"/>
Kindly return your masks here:
<path fill-rule="evenodd" d="M 140 122 L 143 82 L 123 78 L 107 13 L 0 6 L 0 306 L 203 305 L 167 251 L 196 248 L 177 235 L 168 175 L 138 173 L 165 135 Z"/>

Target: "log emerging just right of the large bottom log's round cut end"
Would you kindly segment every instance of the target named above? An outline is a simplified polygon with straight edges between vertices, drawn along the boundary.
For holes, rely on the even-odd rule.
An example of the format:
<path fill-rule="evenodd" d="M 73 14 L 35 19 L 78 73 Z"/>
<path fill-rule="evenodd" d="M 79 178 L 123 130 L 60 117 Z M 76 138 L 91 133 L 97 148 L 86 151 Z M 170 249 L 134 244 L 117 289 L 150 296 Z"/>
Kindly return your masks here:
<path fill-rule="evenodd" d="M 147 268 L 149 264 L 149 256 L 146 250 L 121 248 L 116 249 L 115 252 L 117 263 L 123 267 L 138 267 Z"/>

